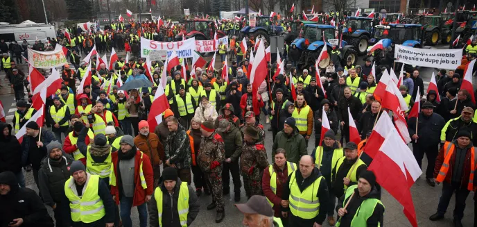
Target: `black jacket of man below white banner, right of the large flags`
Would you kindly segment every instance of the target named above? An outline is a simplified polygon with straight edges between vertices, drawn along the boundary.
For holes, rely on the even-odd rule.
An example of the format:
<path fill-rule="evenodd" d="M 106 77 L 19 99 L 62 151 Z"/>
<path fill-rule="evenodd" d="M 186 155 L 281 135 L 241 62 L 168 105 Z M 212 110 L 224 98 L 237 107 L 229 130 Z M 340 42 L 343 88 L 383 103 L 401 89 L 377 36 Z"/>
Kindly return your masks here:
<path fill-rule="evenodd" d="M 446 121 L 439 114 L 433 113 L 431 116 L 426 117 L 422 112 L 419 112 L 419 123 L 417 126 L 417 144 L 426 144 L 426 146 L 437 145 L 440 142 L 440 133 Z M 412 137 L 416 134 L 416 118 L 411 117 L 408 119 L 408 131 Z M 411 140 L 412 143 L 416 143 L 415 140 Z"/>

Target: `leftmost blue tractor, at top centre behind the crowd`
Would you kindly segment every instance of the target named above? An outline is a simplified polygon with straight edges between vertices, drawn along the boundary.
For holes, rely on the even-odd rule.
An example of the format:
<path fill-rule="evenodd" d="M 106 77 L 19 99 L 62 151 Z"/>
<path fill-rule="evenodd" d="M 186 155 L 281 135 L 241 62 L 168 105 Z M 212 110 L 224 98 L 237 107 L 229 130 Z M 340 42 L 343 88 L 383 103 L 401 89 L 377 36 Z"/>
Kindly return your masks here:
<path fill-rule="evenodd" d="M 254 27 L 245 26 L 242 28 L 240 31 L 240 39 L 243 37 L 264 37 L 267 42 L 270 43 L 270 36 L 281 35 L 282 33 L 284 33 L 284 28 L 280 25 L 272 25 L 270 17 L 259 16 L 257 17 L 257 24 L 255 24 Z"/>

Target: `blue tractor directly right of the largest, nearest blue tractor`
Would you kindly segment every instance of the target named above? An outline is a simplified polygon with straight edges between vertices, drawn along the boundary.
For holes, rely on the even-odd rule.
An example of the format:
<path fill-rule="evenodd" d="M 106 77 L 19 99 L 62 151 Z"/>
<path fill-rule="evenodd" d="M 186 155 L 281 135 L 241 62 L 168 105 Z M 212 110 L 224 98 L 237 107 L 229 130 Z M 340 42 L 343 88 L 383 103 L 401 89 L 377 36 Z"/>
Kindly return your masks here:
<path fill-rule="evenodd" d="M 347 17 L 346 24 L 342 28 L 342 39 L 354 46 L 359 55 L 367 53 L 368 40 L 372 34 L 372 22 L 370 17 Z"/>

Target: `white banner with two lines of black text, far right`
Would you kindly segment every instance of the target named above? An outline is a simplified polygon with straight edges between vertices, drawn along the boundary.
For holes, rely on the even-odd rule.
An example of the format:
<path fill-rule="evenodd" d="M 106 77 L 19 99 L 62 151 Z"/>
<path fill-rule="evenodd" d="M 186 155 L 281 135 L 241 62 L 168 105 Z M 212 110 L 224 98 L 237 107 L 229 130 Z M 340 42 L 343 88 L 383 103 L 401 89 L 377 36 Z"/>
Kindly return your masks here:
<path fill-rule="evenodd" d="M 394 58 L 397 62 L 440 69 L 456 69 L 462 59 L 462 49 L 419 49 L 396 45 Z"/>

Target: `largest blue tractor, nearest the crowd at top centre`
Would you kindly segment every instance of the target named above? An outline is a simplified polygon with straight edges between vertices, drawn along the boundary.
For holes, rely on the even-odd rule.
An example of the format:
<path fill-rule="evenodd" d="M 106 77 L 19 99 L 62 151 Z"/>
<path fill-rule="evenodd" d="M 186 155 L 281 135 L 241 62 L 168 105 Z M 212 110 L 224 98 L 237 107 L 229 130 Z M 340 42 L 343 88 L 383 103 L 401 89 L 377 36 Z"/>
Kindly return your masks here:
<path fill-rule="evenodd" d="M 336 33 L 334 26 L 324 25 L 324 24 L 305 24 L 302 28 L 300 37 L 295 39 L 291 46 L 296 45 L 297 49 L 300 51 L 300 60 L 298 60 L 298 65 L 300 67 L 308 67 L 310 65 L 315 65 L 315 61 L 320 56 L 320 51 L 322 50 L 323 45 L 326 41 L 327 51 L 329 56 L 331 56 L 332 46 L 329 43 L 329 40 L 336 41 Z M 324 36 L 324 37 L 323 37 Z M 341 65 L 345 65 L 345 62 L 348 58 L 351 58 L 352 62 L 356 62 L 357 54 L 353 46 L 347 45 L 347 42 L 341 41 L 341 59 L 343 60 Z M 325 68 L 329 65 L 331 58 L 322 60 L 318 65 L 320 68 Z"/>

